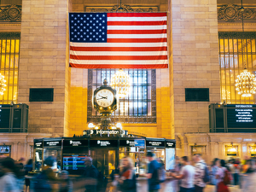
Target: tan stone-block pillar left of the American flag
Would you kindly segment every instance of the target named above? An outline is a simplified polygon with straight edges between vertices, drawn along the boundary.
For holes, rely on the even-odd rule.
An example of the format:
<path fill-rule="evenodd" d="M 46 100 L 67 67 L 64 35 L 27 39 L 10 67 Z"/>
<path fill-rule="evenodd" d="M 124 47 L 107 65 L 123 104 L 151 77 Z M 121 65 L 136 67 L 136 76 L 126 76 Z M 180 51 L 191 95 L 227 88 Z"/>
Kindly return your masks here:
<path fill-rule="evenodd" d="M 23 0 L 18 102 L 29 105 L 29 132 L 63 135 L 67 0 Z M 54 88 L 54 102 L 29 102 L 30 88 Z"/>

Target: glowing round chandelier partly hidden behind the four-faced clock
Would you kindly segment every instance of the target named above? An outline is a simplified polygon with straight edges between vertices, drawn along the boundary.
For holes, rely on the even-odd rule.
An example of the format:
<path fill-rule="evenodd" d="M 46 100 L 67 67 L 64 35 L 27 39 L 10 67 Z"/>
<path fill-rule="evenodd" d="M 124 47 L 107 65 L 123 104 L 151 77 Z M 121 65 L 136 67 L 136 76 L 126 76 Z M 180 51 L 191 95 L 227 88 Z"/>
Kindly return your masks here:
<path fill-rule="evenodd" d="M 117 91 L 119 97 L 125 97 L 130 90 L 130 77 L 123 69 L 119 69 L 118 73 L 115 73 L 111 78 L 110 85 Z"/>

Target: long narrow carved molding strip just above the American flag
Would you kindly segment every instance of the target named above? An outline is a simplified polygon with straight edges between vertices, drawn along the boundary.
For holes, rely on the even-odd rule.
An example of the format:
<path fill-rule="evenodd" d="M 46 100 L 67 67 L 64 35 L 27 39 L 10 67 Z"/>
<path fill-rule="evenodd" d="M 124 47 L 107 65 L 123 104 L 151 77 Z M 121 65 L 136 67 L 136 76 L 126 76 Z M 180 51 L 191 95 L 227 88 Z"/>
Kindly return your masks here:
<path fill-rule="evenodd" d="M 138 6 L 130 6 L 126 4 L 120 5 L 114 5 L 113 7 L 107 7 L 107 6 L 85 6 L 84 7 L 85 12 L 97 12 L 97 13 L 102 13 L 102 12 L 110 12 L 110 13 L 115 13 L 115 12 L 136 12 L 136 13 L 147 13 L 147 12 L 158 12 L 159 7 L 158 6 L 152 6 L 152 7 L 138 7 Z"/>

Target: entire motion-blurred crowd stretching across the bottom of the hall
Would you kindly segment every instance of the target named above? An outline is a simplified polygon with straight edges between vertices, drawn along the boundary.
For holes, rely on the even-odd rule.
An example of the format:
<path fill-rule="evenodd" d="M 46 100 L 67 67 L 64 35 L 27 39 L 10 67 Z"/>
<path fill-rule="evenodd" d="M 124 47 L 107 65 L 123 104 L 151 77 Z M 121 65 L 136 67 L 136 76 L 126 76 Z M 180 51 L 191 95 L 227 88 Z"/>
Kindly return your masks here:
<path fill-rule="evenodd" d="M 164 171 L 164 163 L 154 157 L 154 153 L 148 152 L 148 172 L 142 177 L 148 179 L 148 191 L 157 192 L 161 188 L 161 183 L 168 179 L 176 182 L 176 189 L 172 192 L 202 192 L 207 184 L 215 185 L 216 192 L 229 192 L 232 185 L 238 186 L 241 191 L 256 191 L 254 181 L 256 181 L 254 160 L 230 159 L 228 161 L 212 161 L 211 166 L 207 166 L 201 154 L 195 154 L 191 160 L 189 157 L 176 157 L 175 169 L 169 174 Z M 44 160 L 42 172 L 35 177 L 26 177 L 28 172 L 32 172 L 32 160 L 23 164 L 24 158 L 15 161 L 9 157 L 0 157 L 0 192 L 20 192 L 20 191 L 60 191 L 72 192 L 73 189 L 84 188 L 85 192 L 106 191 L 107 184 L 111 183 L 112 191 L 117 192 L 137 192 L 137 175 L 135 174 L 134 162 L 129 156 L 123 157 L 119 162 L 119 167 L 113 170 L 109 179 L 102 175 L 93 166 L 92 159 L 84 159 L 84 173 L 72 181 L 67 171 L 61 171 L 58 175 L 52 170 L 55 159 L 49 156 Z M 73 183 L 74 182 L 74 183 Z M 145 191 L 145 190 L 144 190 Z"/>

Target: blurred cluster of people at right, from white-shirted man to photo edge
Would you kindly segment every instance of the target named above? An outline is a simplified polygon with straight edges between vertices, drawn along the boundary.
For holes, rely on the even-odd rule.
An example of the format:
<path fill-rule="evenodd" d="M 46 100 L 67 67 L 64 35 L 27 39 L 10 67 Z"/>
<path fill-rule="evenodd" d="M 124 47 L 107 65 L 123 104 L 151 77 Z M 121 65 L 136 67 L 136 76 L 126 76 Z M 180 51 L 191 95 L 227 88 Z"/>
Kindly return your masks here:
<path fill-rule="evenodd" d="M 202 192 L 207 184 L 214 185 L 216 192 L 229 192 L 230 186 L 237 186 L 244 192 L 253 192 L 255 189 L 255 161 L 246 158 L 212 160 L 212 165 L 202 160 L 201 154 L 195 154 L 192 160 L 187 156 L 176 157 L 176 166 L 172 177 L 179 180 L 177 189 L 180 192 Z"/>

